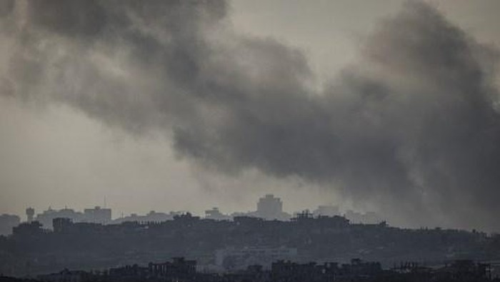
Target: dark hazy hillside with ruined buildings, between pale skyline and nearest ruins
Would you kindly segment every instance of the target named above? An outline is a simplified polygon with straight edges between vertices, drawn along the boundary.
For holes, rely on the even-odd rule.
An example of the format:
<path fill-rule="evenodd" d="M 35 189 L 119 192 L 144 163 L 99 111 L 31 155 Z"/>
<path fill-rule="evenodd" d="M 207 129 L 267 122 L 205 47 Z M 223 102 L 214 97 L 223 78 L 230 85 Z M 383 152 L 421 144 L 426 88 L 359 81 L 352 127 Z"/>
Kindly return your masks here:
<path fill-rule="evenodd" d="M 200 219 L 186 213 L 161 223 L 115 225 L 54 220 L 54 231 L 36 221 L 22 223 L 11 236 L 0 236 L 0 273 L 36 276 L 61 269 L 106 269 L 146 265 L 171 257 L 215 264 L 216 250 L 234 247 L 294 248 L 293 261 L 379 261 L 384 268 L 416 261 L 426 265 L 456 260 L 490 262 L 500 258 L 500 236 L 476 231 L 405 229 L 352 224 L 341 216 L 292 221 L 236 217 Z M 267 267 L 269 268 L 269 267 Z"/>

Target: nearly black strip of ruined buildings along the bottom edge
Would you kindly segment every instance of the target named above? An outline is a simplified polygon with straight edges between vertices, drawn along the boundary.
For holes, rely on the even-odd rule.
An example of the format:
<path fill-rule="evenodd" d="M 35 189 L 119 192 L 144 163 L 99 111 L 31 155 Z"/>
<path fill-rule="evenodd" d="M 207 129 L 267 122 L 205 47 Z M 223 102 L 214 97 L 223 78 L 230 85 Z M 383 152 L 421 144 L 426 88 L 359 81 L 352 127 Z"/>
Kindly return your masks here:
<path fill-rule="evenodd" d="M 104 271 L 69 271 L 36 276 L 36 278 L 1 277 L 0 282 L 486 282 L 492 278 L 491 265 L 473 261 L 454 261 L 439 268 L 405 263 L 384 270 L 380 263 L 353 259 L 351 263 L 293 263 L 276 261 L 270 270 L 262 266 L 249 266 L 244 271 L 209 273 L 196 271 L 196 261 L 174 258 L 166 263 L 147 266 L 123 266 Z"/>

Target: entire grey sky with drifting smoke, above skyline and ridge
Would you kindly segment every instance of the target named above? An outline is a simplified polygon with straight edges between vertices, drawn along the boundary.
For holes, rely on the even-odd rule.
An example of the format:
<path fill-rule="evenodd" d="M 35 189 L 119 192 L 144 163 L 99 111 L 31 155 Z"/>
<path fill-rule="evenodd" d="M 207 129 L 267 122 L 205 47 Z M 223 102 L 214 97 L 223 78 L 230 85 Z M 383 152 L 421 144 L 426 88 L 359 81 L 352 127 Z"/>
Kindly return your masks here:
<path fill-rule="evenodd" d="M 333 203 L 499 231 L 499 1 L 0 1 L 0 213 Z"/>

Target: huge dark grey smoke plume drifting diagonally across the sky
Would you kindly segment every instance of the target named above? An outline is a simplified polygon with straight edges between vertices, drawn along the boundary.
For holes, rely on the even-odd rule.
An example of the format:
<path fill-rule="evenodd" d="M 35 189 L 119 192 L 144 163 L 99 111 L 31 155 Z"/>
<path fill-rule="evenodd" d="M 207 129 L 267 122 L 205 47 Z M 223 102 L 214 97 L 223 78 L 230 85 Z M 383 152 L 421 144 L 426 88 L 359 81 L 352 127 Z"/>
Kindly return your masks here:
<path fill-rule="evenodd" d="M 409 2 L 322 91 L 300 51 L 235 34 L 224 1 L 4 1 L 2 91 L 225 173 L 257 168 L 393 222 L 499 230 L 496 53 Z M 8 89 L 9 91 L 4 91 Z"/>

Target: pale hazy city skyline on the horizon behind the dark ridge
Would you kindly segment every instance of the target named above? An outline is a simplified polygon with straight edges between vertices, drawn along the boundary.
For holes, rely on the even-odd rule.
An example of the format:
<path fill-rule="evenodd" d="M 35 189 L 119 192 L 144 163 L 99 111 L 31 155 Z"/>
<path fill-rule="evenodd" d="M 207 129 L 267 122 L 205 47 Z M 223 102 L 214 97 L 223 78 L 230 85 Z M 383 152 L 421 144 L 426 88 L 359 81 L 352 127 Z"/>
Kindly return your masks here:
<path fill-rule="evenodd" d="M 201 216 L 202 218 L 220 220 L 233 220 L 236 216 L 251 216 L 262 218 L 264 220 L 279 220 L 289 221 L 295 218 L 300 213 L 311 213 L 311 216 L 344 216 L 353 223 L 381 223 L 384 218 L 379 217 L 372 211 L 353 211 L 351 209 L 340 207 L 338 205 L 319 205 L 316 207 L 306 208 L 299 211 L 285 211 L 283 209 L 283 202 L 281 198 L 275 197 L 273 194 L 266 194 L 259 198 L 256 202 L 254 209 L 250 211 L 226 211 L 224 207 L 206 208 L 204 213 L 196 213 L 188 210 L 171 211 L 171 210 L 151 210 L 147 213 L 129 213 L 125 214 L 120 211 L 114 211 L 109 206 L 93 206 L 87 207 L 79 211 L 71 206 L 64 206 L 64 208 L 57 208 L 49 206 L 47 209 L 36 210 L 31 206 L 26 208 L 23 215 L 4 213 L 1 216 L 6 217 L 5 220 L 0 220 L 1 230 L 0 234 L 10 234 L 11 230 L 19 223 L 31 223 L 38 221 L 44 228 L 53 228 L 52 221 L 55 218 L 67 218 L 75 223 L 88 222 L 88 223 L 103 223 L 103 224 L 119 224 L 123 222 L 163 222 L 169 221 L 174 216 L 179 216 L 185 213 L 190 213 L 194 216 Z M 14 220 L 13 217 L 17 217 Z M 13 221 L 14 220 L 14 221 Z M 5 226 L 6 225 L 6 226 Z"/>

